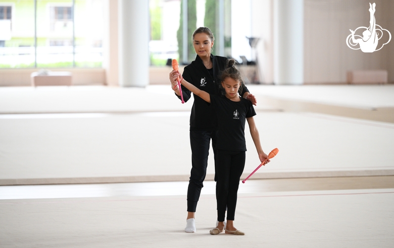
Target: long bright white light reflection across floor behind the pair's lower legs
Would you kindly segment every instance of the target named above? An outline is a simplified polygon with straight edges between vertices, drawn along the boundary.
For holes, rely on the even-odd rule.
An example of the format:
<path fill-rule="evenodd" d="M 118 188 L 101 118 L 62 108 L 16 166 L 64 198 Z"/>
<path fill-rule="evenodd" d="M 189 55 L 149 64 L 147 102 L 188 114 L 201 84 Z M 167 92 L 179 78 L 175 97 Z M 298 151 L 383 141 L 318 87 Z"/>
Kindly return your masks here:
<path fill-rule="evenodd" d="M 239 194 L 256 193 L 261 180 L 239 183 Z M 186 196 L 187 181 L 0 186 L 0 200 L 119 196 Z M 205 181 L 202 195 L 215 195 L 214 181 Z"/>

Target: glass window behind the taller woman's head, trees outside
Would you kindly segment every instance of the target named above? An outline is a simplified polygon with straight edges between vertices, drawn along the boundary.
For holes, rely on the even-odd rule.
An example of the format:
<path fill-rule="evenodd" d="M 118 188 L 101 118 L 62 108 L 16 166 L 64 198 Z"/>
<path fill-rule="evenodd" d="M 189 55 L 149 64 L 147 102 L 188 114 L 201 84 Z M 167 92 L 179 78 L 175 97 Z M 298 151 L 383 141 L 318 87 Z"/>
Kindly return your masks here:
<path fill-rule="evenodd" d="M 152 66 L 173 58 L 180 64 L 194 60 L 191 36 L 198 27 L 213 32 L 213 54 L 231 56 L 231 0 L 150 0 L 150 13 Z"/>

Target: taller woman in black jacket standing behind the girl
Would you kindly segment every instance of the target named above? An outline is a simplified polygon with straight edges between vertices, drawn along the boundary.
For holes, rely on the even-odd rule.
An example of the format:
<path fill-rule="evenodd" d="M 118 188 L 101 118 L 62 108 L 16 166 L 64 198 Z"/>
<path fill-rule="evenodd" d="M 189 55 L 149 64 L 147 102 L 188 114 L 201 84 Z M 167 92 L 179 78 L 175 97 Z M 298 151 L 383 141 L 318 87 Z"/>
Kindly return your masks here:
<path fill-rule="evenodd" d="M 219 73 L 225 69 L 227 58 L 211 54 L 215 38 L 211 30 L 207 27 L 196 29 L 192 35 L 195 60 L 186 66 L 182 77 L 192 85 L 210 94 L 220 95 L 218 79 Z M 172 89 L 180 99 L 182 90 L 183 99 L 186 102 L 190 99 L 191 92 L 184 86 L 178 88 L 178 73 L 170 73 Z M 251 100 L 256 105 L 256 98 L 249 93 L 245 87 L 241 96 Z M 207 173 L 208 153 L 210 141 L 215 157 L 217 117 L 215 110 L 200 97 L 194 96 L 193 106 L 190 113 L 190 147 L 191 147 L 191 171 L 187 188 L 187 218 L 186 232 L 195 232 L 195 210 L 200 198 L 201 188 Z M 216 176 L 215 176 L 216 177 Z"/>

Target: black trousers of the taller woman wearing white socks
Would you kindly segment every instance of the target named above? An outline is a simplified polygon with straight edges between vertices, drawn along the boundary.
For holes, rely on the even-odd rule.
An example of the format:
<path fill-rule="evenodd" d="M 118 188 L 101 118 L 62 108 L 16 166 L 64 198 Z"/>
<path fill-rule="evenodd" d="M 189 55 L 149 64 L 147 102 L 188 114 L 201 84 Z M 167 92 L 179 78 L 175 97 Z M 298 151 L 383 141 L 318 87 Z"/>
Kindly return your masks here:
<path fill-rule="evenodd" d="M 195 212 L 204 187 L 211 139 L 215 157 L 216 131 L 190 131 L 191 171 L 187 188 L 187 212 Z"/>

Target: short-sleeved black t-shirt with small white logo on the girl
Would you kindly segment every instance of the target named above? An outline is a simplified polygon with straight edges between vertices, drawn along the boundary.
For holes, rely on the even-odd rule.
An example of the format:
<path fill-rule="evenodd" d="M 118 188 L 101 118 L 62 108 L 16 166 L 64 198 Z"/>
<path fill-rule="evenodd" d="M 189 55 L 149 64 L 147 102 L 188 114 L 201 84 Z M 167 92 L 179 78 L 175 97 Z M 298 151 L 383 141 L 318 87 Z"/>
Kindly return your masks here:
<path fill-rule="evenodd" d="M 226 96 L 210 94 L 210 107 L 218 116 L 216 148 L 227 151 L 246 151 L 245 120 L 256 115 L 252 102 L 242 97 L 234 102 Z"/>

